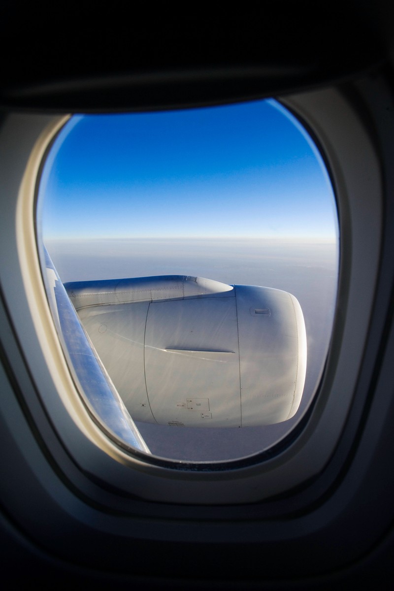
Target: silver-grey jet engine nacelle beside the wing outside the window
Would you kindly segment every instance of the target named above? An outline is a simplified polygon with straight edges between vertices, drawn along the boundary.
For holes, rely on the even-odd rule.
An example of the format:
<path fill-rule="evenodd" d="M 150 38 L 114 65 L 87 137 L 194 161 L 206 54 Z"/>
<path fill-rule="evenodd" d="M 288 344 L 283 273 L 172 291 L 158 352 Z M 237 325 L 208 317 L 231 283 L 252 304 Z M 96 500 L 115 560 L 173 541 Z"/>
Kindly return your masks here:
<path fill-rule="evenodd" d="M 246 427 L 297 411 L 307 341 L 286 291 L 182 275 L 64 287 L 133 420 Z"/>

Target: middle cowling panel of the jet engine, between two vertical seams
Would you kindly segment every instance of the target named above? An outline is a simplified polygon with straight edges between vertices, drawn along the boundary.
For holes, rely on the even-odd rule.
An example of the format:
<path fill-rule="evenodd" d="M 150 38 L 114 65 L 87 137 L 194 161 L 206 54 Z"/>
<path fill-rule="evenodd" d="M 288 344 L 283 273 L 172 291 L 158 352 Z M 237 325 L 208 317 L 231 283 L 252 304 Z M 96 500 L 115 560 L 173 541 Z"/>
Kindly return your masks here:
<path fill-rule="evenodd" d="M 149 306 L 145 376 L 158 423 L 240 426 L 240 378 L 234 297 Z"/>

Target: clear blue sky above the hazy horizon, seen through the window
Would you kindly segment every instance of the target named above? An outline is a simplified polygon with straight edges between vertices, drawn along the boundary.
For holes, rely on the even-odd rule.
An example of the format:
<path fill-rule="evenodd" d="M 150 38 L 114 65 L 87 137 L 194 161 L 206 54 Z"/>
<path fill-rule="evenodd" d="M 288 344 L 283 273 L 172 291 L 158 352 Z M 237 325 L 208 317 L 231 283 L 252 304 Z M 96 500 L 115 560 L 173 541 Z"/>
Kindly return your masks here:
<path fill-rule="evenodd" d="M 40 186 L 48 238 L 334 240 L 320 154 L 274 100 L 71 119 Z"/>

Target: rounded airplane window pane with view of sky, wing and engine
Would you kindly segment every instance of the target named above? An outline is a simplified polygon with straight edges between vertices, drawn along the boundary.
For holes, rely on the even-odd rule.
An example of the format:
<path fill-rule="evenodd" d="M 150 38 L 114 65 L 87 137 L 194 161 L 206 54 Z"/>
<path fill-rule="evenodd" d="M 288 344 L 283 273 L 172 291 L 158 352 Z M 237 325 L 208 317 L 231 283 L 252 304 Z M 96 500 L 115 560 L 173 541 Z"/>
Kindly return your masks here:
<path fill-rule="evenodd" d="M 294 428 L 330 342 L 338 218 L 323 158 L 288 109 L 73 116 L 44 163 L 37 219 L 92 352 L 63 339 L 70 365 L 92 358 L 103 372 L 119 408 L 93 414 L 111 433 L 209 462 Z M 97 398 L 98 378 L 78 379 Z"/>

